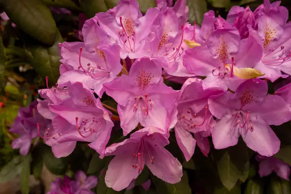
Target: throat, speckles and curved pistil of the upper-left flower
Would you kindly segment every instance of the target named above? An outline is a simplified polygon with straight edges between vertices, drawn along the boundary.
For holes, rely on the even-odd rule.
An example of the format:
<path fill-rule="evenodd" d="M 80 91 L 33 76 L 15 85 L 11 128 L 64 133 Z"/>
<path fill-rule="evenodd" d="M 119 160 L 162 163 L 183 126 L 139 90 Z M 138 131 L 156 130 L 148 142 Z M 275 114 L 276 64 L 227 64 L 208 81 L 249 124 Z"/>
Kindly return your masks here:
<path fill-rule="evenodd" d="M 87 68 L 85 69 L 82 65 L 81 65 L 81 54 L 82 54 L 82 49 L 80 48 L 80 53 L 79 53 L 79 67 L 78 69 L 82 69 L 84 73 L 86 73 L 87 76 L 90 76 L 91 78 L 95 79 L 95 80 L 99 80 L 105 76 L 109 76 L 110 71 L 107 69 L 102 68 L 100 65 L 97 65 L 96 67 L 93 67 L 89 64 L 87 64 Z M 105 55 L 103 53 L 102 50 L 97 50 L 97 55 L 100 58 L 104 58 L 105 60 Z"/>

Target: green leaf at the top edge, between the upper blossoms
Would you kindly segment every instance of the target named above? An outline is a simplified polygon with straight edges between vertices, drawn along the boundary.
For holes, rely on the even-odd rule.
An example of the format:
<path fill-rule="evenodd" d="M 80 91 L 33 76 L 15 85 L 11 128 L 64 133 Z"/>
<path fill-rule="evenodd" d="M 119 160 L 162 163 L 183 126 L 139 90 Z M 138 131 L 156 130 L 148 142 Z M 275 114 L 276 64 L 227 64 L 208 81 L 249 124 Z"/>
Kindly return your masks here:
<path fill-rule="evenodd" d="M 205 0 L 187 0 L 187 6 L 189 7 L 189 22 L 194 24 L 194 21 L 199 26 L 203 21 L 203 15 L 207 10 L 207 3 Z"/>

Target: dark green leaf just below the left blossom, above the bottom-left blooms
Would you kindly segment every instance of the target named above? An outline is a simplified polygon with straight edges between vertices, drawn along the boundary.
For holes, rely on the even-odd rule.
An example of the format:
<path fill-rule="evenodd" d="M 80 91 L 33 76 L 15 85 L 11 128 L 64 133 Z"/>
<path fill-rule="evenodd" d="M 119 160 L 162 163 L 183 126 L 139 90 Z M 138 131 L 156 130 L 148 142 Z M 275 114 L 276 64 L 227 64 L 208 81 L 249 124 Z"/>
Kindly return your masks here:
<path fill-rule="evenodd" d="M 68 158 L 56 158 L 49 146 L 42 146 L 42 160 L 49 171 L 55 175 L 64 175 L 67 169 Z"/>

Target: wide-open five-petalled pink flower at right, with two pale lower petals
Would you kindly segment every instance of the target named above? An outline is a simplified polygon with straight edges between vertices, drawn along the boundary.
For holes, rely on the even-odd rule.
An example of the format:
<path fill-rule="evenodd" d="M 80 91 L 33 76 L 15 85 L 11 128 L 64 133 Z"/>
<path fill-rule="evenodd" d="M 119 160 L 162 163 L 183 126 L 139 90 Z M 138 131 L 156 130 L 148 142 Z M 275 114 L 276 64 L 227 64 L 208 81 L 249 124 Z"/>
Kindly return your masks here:
<path fill-rule="evenodd" d="M 291 119 L 290 107 L 283 98 L 267 95 L 266 81 L 248 80 L 235 94 L 227 91 L 209 98 L 210 112 L 218 119 L 212 130 L 216 149 L 234 146 L 240 135 L 246 145 L 263 156 L 272 156 L 280 140 L 269 125 L 281 125 Z"/>

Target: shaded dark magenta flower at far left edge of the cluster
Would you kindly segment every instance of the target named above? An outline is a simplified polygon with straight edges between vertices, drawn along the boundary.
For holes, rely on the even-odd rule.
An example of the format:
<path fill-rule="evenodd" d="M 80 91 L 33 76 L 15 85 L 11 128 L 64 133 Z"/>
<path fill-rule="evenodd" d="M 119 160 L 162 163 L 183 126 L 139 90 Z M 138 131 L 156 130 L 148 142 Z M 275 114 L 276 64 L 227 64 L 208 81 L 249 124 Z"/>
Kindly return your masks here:
<path fill-rule="evenodd" d="M 49 124 L 49 120 L 46 120 L 37 112 L 36 106 L 37 102 L 34 101 L 29 107 L 19 108 L 14 124 L 9 130 L 20 136 L 13 140 L 11 146 L 13 149 L 19 148 L 20 154 L 24 156 L 29 152 L 32 139 L 37 136 L 36 124 L 39 123 L 42 131 L 44 131 Z"/>

